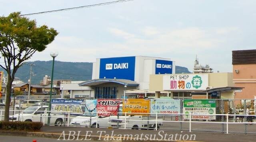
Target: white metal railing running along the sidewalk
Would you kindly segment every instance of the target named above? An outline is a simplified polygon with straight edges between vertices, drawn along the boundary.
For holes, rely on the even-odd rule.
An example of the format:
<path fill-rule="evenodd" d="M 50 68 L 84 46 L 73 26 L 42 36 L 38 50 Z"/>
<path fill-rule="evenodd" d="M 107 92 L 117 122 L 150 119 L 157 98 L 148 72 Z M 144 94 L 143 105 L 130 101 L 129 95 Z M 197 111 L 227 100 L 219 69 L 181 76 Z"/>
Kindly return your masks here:
<path fill-rule="evenodd" d="M 13 110 L 10 110 L 13 111 Z M 28 118 L 40 118 L 37 121 L 42 122 L 44 125 L 58 125 L 58 126 L 77 126 L 76 124 L 71 124 L 72 119 L 77 116 L 72 115 L 71 112 L 68 111 L 36 111 L 40 113 L 40 115 L 34 115 L 31 113 L 29 115 L 25 110 L 14 110 L 16 111 L 16 115 L 10 115 L 10 119 L 12 121 L 26 121 Z M 4 116 L 4 110 L 0 110 L 0 120 Z M 31 112 L 31 111 L 30 111 Z M 47 123 L 48 113 L 51 113 L 50 119 L 56 121 L 57 119 L 62 119 L 61 124 L 56 124 L 56 122 Z M 26 115 L 25 115 L 26 114 Z M 54 114 L 56 114 L 54 116 Z M 136 118 L 136 115 L 139 115 L 141 119 L 133 119 Z M 164 115 L 164 116 L 160 116 Z M 216 120 L 202 120 L 202 119 L 193 119 L 193 116 L 220 116 L 222 117 L 222 121 Z M 184 117 L 188 119 L 184 119 Z M 120 118 L 122 117 L 122 118 Z M 172 117 L 175 117 L 173 120 Z M 178 119 L 177 119 L 178 117 Z M 137 117 L 138 118 L 138 117 Z M 235 118 L 235 119 L 234 119 Z M 236 122 L 236 118 L 243 118 L 242 122 Z M 80 118 L 81 120 L 88 121 L 88 127 L 113 127 L 113 128 L 134 128 L 134 129 L 154 129 L 154 130 L 188 130 L 192 131 L 211 131 L 211 132 L 223 132 L 223 133 L 252 133 L 256 134 L 256 127 L 248 124 L 256 124 L 256 122 L 247 122 L 248 119 L 255 120 L 256 115 L 232 115 L 232 114 L 164 114 L 164 113 L 118 113 L 117 116 L 110 116 L 100 118 L 98 113 L 91 113 L 90 116 L 86 118 Z M 96 121 L 95 121 L 96 119 Z M 100 126 L 99 123 L 102 121 L 107 122 L 107 126 Z M 111 126 L 110 122 L 114 120 L 116 123 L 115 126 Z M 32 120 L 33 121 L 33 120 Z M 132 123 L 134 122 L 134 123 Z M 143 126 L 133 127 L 131 124 L 142 124 Z M 146 122 L 146 123 L 145 123 Z M 83 126 L 83 125 L 80 125 Z M 85 125 L 84 125 L 85 126 Z M 161 128 L 162 127 L 162 128 Z"/>

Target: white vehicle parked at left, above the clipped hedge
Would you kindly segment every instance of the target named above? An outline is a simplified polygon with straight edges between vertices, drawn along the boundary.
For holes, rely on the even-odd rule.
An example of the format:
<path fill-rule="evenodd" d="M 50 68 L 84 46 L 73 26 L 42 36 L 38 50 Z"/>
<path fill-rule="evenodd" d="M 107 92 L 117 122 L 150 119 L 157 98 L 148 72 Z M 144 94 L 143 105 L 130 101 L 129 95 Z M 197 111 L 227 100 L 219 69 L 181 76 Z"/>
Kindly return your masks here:
<path fill-rule="evenodd" d="M 15 114 L 13 116 L 9 117 L 10 121 L 30 121 L 30 122 L 43 122 L 47 124 L 48 122 L 48 113 L 45 113 L 44 111 L 48 110 L 48 106 L 34 106 L 34 107 L 28 107 L 24 109 L 23 114 Z M 42 115 L 42 119 L 40 119 Z M 55 126 L 61 126 L 64 122 L 64 114 L 50 114 L 50 124 L 54 124 Z"/>

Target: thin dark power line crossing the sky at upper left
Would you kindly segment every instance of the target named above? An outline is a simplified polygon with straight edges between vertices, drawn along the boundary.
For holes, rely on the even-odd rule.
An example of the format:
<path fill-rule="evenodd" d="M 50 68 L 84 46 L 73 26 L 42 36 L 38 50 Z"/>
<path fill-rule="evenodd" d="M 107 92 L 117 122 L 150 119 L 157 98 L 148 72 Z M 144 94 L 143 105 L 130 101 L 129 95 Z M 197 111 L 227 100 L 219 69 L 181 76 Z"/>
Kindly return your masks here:
<path fill-rule="evenodd" d="M 67 11 L 67 10 L 75 10 L 75 9 L 80 9 L 80 8 L 90 8 L 90 7 L 94 7 L 94 6 L 104 6 L 104 5 L 108 5 L 108 4 L 115 4 L 115 3 L 128 2 L 128 1 L 132 1 L 132 0 L 117 0 L 117 1 L 113 1 L 113 2 L 105 2 L 105 3 L 100 3 L 100 4 L 92 4 L 92 5 L 79 6 L 79 7 L 74 7 L 74 8 L 64 8 L 64 9 L 60 9 L 60 10 L 50 10 L 50 11 L 46 11 L 46 12 L 38 12 L 38 13 L 31 13 L 31 14 L 22 14 L 22 15 L 20 15 L 20 16 L 30 16 L 30 15 L 36 15 L 36 14 L 45 14 L 45 13 L 52 13 L 52 12 L 60 12 L 60 11 Z"/>

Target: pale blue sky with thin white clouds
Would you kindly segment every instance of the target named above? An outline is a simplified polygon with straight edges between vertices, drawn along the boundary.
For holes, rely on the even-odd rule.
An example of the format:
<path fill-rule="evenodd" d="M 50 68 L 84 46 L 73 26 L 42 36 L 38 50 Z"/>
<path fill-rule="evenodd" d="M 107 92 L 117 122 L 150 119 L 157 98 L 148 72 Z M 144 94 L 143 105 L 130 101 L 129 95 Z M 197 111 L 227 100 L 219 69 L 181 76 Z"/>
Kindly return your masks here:
<path fill-rule="evenodd" d="M 0 15 L 58 10 L 115 0 L 0 0 Z M 132 0 L 27 16 L 59 34 L 28 61 L 96 62 L 96 58 L 171 58 L 192 72 L 199 64 L 232 72 L 232 51 L 256 49 L 255 0 Z"/>

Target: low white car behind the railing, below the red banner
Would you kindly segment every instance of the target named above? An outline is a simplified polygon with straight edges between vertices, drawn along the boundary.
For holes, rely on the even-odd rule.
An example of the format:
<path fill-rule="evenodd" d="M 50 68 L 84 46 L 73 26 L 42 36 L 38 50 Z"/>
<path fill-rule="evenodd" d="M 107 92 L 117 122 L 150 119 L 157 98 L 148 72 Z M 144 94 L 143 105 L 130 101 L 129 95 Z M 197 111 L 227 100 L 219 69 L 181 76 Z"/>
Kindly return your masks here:
<path fill-rule="evenodd" d="M 97 119 L 96 116 L 90 117 L 90 116 L 80 115 L 78 117 L 73 118 L 70 121 L 70 125 L 72 125 L 72 126 L 96 127 L 96 122 L 97 122 L 97 127 L 98 128 L 99 127 L 108 127 L 108 121 L 109 121 L 108 118 L 109 117 L 98 116 L 98 119 Z M 90 123 L 90 121 L 91 121 L 91 123 Z"/>

